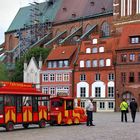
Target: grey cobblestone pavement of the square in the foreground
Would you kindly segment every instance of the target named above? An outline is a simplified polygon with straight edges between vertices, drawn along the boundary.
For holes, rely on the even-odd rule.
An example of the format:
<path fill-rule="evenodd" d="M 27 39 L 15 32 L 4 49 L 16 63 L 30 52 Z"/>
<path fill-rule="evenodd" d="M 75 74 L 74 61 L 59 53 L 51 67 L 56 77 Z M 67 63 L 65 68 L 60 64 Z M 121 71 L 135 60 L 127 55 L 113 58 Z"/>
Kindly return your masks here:
<path fill-rule="evenodd" d="M 12 132 L 0 128 L 0 140 L 140 140 L 140 113 L 135 123 L 130 113 L 127 123 L 120 122 L 120 113 L 94 113 L 94 124 L 29 129 L 17 126 Z"/>

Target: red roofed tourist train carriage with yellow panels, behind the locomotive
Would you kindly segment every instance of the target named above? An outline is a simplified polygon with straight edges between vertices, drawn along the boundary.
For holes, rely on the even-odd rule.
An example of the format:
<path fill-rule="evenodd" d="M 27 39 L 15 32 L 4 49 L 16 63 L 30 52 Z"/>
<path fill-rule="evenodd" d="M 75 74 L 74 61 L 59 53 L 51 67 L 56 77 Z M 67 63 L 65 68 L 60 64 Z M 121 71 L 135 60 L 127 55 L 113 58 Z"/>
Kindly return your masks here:
<path fill-rule="evenodd" d="M 0 126 L 7 131 L 13 130 L 16 124 L 22 124 L 24 128 L 28 128 L 29 124 L 45 127 L 50 96 L 32 86 L 0 82 Z"/>

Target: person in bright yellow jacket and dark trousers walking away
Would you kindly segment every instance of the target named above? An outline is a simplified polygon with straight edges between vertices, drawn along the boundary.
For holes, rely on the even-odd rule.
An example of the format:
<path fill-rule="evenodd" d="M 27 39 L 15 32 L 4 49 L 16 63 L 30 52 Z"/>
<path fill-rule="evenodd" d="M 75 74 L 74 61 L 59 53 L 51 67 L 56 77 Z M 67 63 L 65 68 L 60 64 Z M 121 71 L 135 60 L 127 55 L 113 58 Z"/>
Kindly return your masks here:
<path fill-rule="evenodd" d="M 120 109 L 121 109 L 121 122 L 123 122 L 124 117 L 125 117 L 125 122 L 127 122 L 128 103 L 125 101 L 125 99 L 122 100 L 120 104 Z"/>

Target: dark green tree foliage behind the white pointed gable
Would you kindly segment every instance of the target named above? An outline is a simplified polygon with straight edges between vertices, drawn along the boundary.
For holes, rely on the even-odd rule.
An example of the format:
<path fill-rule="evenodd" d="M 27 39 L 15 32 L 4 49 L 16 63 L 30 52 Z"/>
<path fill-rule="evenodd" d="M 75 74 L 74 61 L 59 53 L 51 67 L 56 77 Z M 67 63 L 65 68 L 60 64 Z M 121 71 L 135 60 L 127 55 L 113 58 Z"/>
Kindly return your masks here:
<path fill-rule="evenodd" d="M 23 82 L 23 69 L 24 69 L 25 59 L 27 60 L 27 63 L 29 63 L 30 59 L 32 57 L 35 57 L 36 61 L 38 62 L 40 55 L 41 55 L 42 60 L 44 62 L 44 60 L 47 58 L 49 52 L 50 52 L 50 49 L 48 49 L 48 48 L 37 47 L 37 48 L 30 49 L 26 53 L 26 55 L 21 57 L 21 59 L 16 62 L 15 71 L 12 76 L 12 81 Z"/>

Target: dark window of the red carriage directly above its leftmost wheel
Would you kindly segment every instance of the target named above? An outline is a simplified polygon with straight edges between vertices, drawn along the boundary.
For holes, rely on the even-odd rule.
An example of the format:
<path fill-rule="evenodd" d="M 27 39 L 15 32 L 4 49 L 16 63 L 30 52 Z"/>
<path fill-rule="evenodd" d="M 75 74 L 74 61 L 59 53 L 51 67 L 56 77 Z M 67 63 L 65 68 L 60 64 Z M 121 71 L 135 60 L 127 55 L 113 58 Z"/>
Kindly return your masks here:
<path fill-rule="evenodd" d="M 14 96 L 7 95 L 4 99 L 5 106 L 15 106 L 15 98 Z"/>

